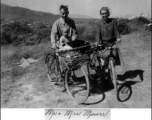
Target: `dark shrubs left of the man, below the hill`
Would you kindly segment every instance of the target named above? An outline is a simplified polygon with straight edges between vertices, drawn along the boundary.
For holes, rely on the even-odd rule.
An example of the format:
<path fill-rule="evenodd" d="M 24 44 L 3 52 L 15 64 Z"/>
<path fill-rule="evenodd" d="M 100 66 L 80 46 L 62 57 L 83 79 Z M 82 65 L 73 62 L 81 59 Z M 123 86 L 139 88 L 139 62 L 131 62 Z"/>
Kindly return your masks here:
<path fill-rule="evenodd" d="M 34 45 L 50 40 L 51 26 L 48 28 L 41 22 L 29 27 L 27 22 L 14 21 L 5 23 L 1 30 L 1 44 Z"/>

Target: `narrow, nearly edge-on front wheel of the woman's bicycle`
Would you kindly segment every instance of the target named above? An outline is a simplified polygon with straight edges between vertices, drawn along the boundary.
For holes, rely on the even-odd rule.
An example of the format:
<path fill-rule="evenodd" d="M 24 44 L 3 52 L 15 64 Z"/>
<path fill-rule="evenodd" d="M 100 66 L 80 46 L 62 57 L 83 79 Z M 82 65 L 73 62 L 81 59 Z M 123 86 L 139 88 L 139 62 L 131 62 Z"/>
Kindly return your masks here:
<path fill-rule="evenodd" d="M 111 79 L 112 79 L 113 84 L 114 84 L 114 89 L 115 89 L 115 92 L 116 92 L 116 96 L 118 97 L 117 75 L 116 75 L 113 60 L 109 61 L 109 65 L 110 65 L 110 76 L 111 76 Z"/>

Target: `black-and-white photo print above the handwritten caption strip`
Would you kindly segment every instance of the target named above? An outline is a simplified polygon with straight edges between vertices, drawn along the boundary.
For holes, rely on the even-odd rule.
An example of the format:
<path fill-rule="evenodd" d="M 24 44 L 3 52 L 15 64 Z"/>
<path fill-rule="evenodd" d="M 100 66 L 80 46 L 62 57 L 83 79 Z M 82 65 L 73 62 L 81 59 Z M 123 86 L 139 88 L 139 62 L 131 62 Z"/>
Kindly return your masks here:
<path fill-rule="evenodd" d="M 0 22 L 1 108 L 151 108 L 151 0 L 1 0 Z"/>

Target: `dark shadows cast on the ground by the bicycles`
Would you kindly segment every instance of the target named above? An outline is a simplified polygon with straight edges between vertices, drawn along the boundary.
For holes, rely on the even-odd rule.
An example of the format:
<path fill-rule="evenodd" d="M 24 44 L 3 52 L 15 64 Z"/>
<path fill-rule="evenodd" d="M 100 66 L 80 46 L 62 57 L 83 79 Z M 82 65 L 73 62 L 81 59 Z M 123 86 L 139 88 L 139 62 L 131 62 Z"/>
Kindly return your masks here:
<path fill-rule="evenodd" d="M 130 99 L 132 95 L 132 85 L 142 82 L 144 80 L 144 71 L 143 70 L 129 70 L 122 75 L 117 75 L 119 81 L 123 81 L 123 83 L 117 85 L 117 100 L 120 102 L 125 102 Z M 134 81 L 133 79 L 139 76 L 139 81 Z M 92 105 L 102 102 L 106 95 L 105 92 L 111 91 L 114 89 L 114 85 L 110 79 L 99 78 L 97 74 L 91 75 L 90 84 L 91 90 L 90 95 L 94 94 L 102 94 L 103 97 L 94 102 L 94 103 L 85 103 L 85 105 Z"/>

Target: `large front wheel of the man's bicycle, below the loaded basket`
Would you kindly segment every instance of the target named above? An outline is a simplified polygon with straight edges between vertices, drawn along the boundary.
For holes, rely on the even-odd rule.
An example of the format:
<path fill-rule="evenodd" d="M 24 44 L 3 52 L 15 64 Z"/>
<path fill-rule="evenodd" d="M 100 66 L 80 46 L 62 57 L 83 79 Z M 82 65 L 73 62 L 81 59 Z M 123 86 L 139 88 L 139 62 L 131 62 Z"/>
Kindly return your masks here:
<path fill-rule="evenodd" d="M 84 103 L 90 92 L 90 83 L 82 66 L 75 70 L 67 70 L 65 74 L 65 86 L 73 100 L 77 103 Z"/>

